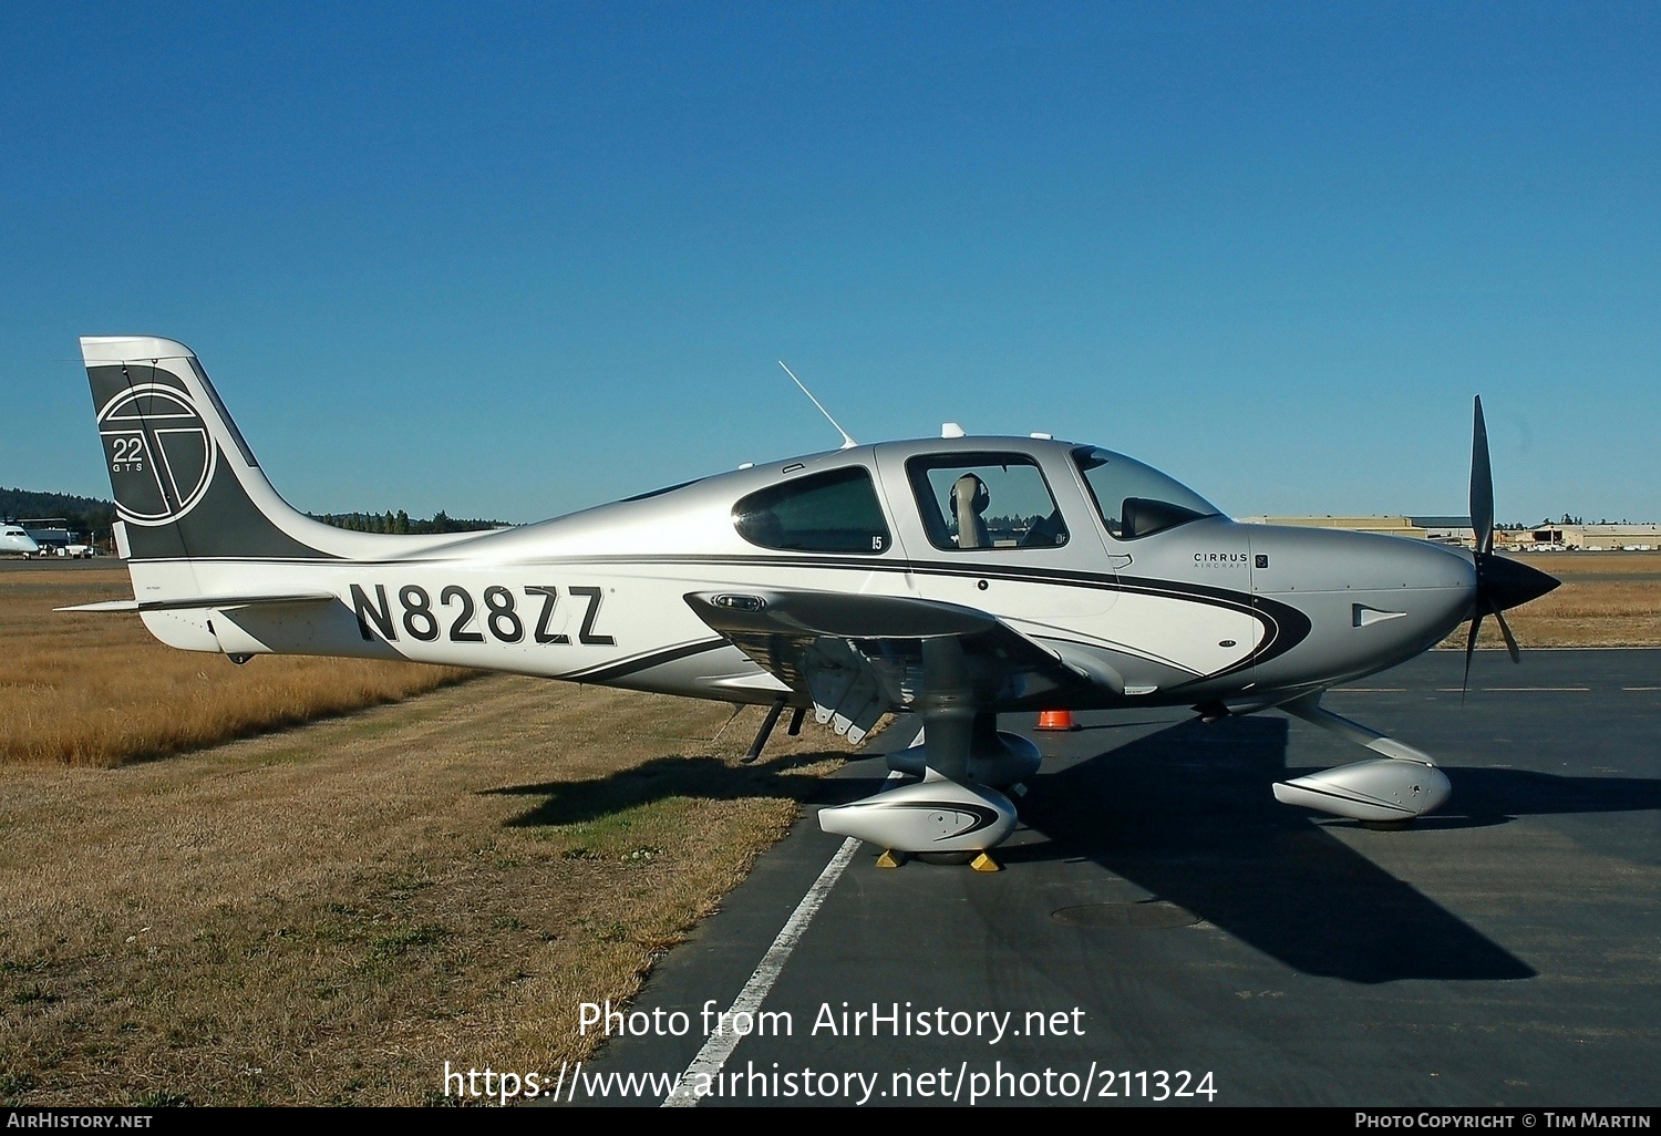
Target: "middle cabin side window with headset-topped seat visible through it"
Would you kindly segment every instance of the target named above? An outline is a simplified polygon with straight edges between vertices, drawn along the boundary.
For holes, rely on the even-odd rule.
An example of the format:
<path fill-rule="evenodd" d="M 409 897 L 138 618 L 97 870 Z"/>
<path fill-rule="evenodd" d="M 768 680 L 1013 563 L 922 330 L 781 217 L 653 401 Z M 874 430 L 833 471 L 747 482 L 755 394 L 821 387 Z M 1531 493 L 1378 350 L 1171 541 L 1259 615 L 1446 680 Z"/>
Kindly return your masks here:
<path fill-rule="evenodd" d="M 935 548 L 1056 548 L 1068 540 L 1050 483 L 1025 453 L 914 457 L 905 475 Z"/>

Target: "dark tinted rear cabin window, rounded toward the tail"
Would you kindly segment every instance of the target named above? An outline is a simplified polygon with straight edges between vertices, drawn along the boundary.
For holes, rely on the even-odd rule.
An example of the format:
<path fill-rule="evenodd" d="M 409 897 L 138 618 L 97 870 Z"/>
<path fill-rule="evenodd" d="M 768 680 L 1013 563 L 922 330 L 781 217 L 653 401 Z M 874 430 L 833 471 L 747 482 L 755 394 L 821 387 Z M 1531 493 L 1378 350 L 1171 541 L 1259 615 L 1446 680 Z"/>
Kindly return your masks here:
<path fill-rule="evenodd" d="M 870 470 L 844 470 L 769 485 L 733 507 L 737 535 L 762 548 L 859 553 L 889 550 L 889 521 Z"/>

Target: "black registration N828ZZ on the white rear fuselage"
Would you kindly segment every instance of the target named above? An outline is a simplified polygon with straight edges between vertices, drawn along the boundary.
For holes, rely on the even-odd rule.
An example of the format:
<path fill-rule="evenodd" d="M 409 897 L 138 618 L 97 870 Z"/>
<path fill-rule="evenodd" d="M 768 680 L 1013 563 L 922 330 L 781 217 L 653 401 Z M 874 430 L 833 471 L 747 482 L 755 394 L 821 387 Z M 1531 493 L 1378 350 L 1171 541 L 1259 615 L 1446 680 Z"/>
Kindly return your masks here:
<path fill-rule="evenodd" d="M 588 603 L 576 641 L 590 646 L 616 646 L 616 639 L 610 634 L 595 631 L 595 619 L 600 616 L 600 588 L 566 588 L 566 593 L 573 600 Z M 551 586 L 525 588 L 525 596 L 527 603 L 537 608 L 532 641 L 570 643 L 571 636 L 548 629 L 560 603 L 560 590 Z M 395 613 L 385 585 L 375 585 L 374 600 L 359 585 L 352 585 L 352 611 L 357 615 L 357 629 L 365 641 L 374 641 L 375 631 L 379 631 L 382 639 L 395 643 L 402 626 L 404 634 L 420 643 L 432 643 L 440 634 L 448 634 L 450 643 L 483 643 L 487 628 L 498 643 L 523 643 L 525 619 L 520 616 L 513 593 L 500 585 L 492 585 L 485 588 L 483 600 L 485 606 L 480 611 L 467 588 L 448 585 L 439 593 L 439 603 L 434 605 L 434 598 L 425 588 L 404 585 L 397 591 L 397 601 L 404 611 Z M 448 626 L 448 633 L 445 633 L 445 626 Z"/>

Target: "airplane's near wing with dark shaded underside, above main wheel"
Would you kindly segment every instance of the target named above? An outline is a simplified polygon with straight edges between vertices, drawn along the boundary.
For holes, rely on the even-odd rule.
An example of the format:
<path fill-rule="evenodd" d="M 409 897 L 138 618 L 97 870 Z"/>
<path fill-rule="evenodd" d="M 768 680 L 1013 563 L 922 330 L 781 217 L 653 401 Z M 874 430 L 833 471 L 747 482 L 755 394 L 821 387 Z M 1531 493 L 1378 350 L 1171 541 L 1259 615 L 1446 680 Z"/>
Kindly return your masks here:
<path fill-rule="evenodd" d="M 977 608 L 837 591 L 694 591 L 699 619 L 854 742 L 889 711 L 1020 708 L 1091 676 Z"/>

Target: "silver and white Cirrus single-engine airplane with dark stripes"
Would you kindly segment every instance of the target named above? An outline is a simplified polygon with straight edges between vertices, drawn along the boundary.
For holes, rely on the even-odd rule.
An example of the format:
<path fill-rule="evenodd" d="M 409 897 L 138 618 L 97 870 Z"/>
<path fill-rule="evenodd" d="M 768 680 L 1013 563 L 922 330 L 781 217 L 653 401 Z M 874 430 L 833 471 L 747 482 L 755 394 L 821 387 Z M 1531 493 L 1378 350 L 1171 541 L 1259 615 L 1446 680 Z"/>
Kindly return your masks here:
<path fill-rule="evenodd" d="M 1374 757 L 1277 799 L 1400 824 L 1447 799 L 1423 752 L 1322 693 L 1395 666 L 1556 580 L 1493 553 L 1477 402 L 1477 551 L 1237 525 L 1164 473 L 1091 445 L 945 437 L 855 445 L 488 533 L 380 536 L 291 508 L 196 355 L 81 339 L 136 610 L 186 651 L 402 658 L 772 706 L 859 741 L 914 712 L 920 781 L 824 809 L 894 852 L 985 854 L 1038 749 L 1033 709 L 1277 708 Z M 845 435 L 844 435 L 845 437 Z"/>

